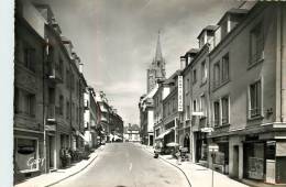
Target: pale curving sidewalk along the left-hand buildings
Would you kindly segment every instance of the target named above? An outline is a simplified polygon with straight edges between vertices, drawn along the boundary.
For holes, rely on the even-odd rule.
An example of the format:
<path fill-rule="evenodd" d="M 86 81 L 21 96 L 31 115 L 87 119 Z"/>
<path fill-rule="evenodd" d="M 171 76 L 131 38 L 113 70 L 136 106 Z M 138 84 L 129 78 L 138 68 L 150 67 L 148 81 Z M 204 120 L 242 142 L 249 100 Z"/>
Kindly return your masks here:
<path fill-rule="evenodd" d="M 37 177 L 29 178 L 20 184 L 16 184 L 14 187 L 47 187 L 53 186 L 68 177 L 72 177 L 79 172 L 84 170 L 87 166 L 89 166 L 92 161 L 95 161 L 100 151 L 102 151 L 103 146 L 98 147 L 94 153 L 89 155 L 88 160 L 82 160 L 72 167 L 65 169 L 57 169 L 56 172 L 52 172 L 50 174 L 42 174 Z"/>

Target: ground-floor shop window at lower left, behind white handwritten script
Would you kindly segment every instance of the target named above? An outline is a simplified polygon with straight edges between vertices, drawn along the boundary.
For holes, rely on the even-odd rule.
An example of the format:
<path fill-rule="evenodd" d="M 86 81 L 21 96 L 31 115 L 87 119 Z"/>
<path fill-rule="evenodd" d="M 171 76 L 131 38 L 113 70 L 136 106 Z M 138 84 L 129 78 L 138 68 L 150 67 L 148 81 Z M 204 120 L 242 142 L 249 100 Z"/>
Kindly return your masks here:
<path fill-rule="evenodd" d="M 38 169 L 37 140 L 15 139 L 15 163 L 20 172 L 32 172 Z"/>

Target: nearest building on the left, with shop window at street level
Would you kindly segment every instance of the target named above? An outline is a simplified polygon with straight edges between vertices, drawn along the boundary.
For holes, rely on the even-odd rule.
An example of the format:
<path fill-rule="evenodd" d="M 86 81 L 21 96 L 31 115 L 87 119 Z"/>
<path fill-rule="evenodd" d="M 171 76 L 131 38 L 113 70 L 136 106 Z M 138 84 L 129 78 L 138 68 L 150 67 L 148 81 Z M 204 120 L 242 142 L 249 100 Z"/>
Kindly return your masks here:
<path fill-rule="evenodd" d="M 34 13 L 37 25 L 31 21 Z M 14 182 L 45 172 L 44 75 L 45 20 L 29 2 L 16 1 L 14 53 Z M 44 160 L 43 160 L 44 162 Z"/>

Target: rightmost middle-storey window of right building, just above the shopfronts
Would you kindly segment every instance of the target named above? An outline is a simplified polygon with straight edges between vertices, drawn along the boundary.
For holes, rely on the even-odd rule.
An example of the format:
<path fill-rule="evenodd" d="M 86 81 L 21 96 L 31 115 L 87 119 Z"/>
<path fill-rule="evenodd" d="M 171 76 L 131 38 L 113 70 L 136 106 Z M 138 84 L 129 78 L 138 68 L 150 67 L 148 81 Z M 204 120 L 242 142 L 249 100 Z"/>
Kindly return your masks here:
<path fill-rule="evenodd" d="M 262 109 L 262 89 L 261 80 L 250 85 L 250 117 L 261 116 Z"/>

